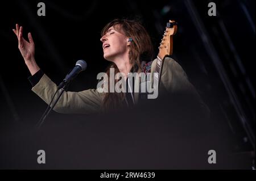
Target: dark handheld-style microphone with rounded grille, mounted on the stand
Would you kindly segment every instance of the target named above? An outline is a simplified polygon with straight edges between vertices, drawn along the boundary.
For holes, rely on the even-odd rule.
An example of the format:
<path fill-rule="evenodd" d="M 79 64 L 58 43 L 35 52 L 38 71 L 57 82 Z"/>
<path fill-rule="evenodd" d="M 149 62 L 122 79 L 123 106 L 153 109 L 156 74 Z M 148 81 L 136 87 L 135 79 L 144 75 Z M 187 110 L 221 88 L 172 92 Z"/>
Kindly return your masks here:
<path fill-rule="evenodd" d="M 75 68 L 73 68 L 69 73 L 66 75 L 66 77 L 63 79 L 63 81 L 58 86 L 58 89 L 63 88 L 64 86 L 68 85 L 69 82 L 71 82 L 76 76 L 81 72 L 84 71 L 87 68 L 87 64 L 84 60 L 78 60 L 76 62 Z"/>

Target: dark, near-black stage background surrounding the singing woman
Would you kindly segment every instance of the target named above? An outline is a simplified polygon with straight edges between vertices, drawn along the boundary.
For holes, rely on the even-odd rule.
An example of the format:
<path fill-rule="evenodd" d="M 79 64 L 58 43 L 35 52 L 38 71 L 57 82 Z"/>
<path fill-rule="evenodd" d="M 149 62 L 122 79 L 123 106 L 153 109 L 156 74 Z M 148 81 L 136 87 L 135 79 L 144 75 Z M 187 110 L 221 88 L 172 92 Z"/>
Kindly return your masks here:
<path fill-rule="evenodd" d="M 204 163 L 210 149 L 232 155 L 234 168 L 255 165 L 255 1 L 42 1 L 46 16 L 38 16 L 39 2 L 1 2 L 1 169 L 233 168 L 229 161 L 216 167 Z M 216 3 L 215 17 L 208 16 L 209 2 Z M 141 19 L 155 57 L 166 23 L 178 22 L 172 58 L 210 108 L 210 144 L 203 134 L 209 125 L 192 121 L 191 127 L 187 122 L 174 127 L 168 102 L 160 101 L 162 112 L 128 110 L 127 117 L 52 112 L 41 131 L 34 130 L 47 104 L 31 91 L 15 23 L 23 26 L 24 37 L 32 33 L 36 62 L 54 82 L 60 83 L 77 60 L 87 62 L 69 87 L 82 91 L 96 87 L 96 75 L 109 64 L 100 32 L 114 18 Z M 184 136 L 186 128 L 203 131 Z M 36 163 L 39 149 L 46 150 L 46 165 Z"/>

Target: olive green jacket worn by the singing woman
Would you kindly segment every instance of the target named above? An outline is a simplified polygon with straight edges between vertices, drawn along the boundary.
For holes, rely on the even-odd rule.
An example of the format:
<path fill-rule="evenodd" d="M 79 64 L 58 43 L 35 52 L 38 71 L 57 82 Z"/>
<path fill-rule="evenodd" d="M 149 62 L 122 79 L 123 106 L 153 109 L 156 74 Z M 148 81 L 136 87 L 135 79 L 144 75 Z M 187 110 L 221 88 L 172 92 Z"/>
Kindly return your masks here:
<path fill-rule="evenodd" d="M 155 71 L 155 67 L 156 59 L 152 62 L 151 72 Z M 56 84 L 52 82 L 46 74 L 44 74 L 40 81 L 32 87 L 32 91 L 47 104 L 51 102 L 56 90 Z M 172 58 L 166 58 L 164 60 L 159 94 L 161 94 L 163 90 L 167 90 L 171 94 L 183 91 L 193 92 L 193 94 L 200 100 L 201 106 L 207 107 L 193 85 L 188 81 L 184 70 Z M 59 113 L 98 113 L 102 111 L 101 104 L 103 95 L 104 93 L 98 92 L 97 89 L 89 89 L 80 92 L 64 91 L 53 110 Z M 135 102 L 138 103 L 139 96 L 137 93 L 134 94 L 134 98 Z"/>

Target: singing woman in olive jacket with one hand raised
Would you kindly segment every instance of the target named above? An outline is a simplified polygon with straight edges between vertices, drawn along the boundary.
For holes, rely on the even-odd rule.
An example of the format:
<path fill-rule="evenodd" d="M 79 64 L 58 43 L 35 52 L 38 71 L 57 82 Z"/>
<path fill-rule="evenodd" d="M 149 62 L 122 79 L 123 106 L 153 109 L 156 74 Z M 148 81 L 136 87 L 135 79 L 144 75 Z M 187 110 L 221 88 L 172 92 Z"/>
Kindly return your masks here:
<path fill-rule="evenodd" d="M 32 91 L 49 104 L 57 86 L 36 64 L 35 45 L 31 33 L 28 33 L 28 41 L 26 41 L 23 38 L 22 27 L 16 24 L 16 30 L 13 31 L 18 37 L 20 53 L 32 75 L 29 78 L 33 86 Z M 123 73 L 125 77 L 130 72 L 140 73 L 149 70 L 154 72 L 156 60 L 152 62 L 152 65 L 151 63 L 145 64 L 145 61 L 152 60 L 153 48 L 150 36 L 141 23 L 134 20 L 115 19 L 103 28 L 100 40 L 104 58 L 112 62 L 106 71 L 108 76 L 110 68 L 114 68 L 115 73 Z M 166 58 L 164 61 L 159 90 L 172 93 L 192 92 L 201 102 L 200 96 L 188 81 L 187 75 L 172 58 Z M 100 93 L 97 89 L 80 92 L 65 91 L 54 110 L 60 113 L 95 113 L 131 106 L 138 103 L 138 100 L 139 95 L 133 92 Z M 201 104 L 204 105 L 203 102 Z"/>

